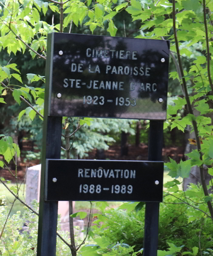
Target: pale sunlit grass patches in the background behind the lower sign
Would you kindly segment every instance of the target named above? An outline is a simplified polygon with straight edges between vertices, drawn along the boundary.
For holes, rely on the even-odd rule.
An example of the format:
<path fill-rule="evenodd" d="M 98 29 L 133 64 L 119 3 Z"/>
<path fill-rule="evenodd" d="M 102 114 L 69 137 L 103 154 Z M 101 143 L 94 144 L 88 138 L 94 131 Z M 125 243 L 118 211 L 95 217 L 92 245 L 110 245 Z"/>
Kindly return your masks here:
<path fill-rule="evenodd" d="M 168 181 L 173 180 L 172 177 L 168 175 L 168 171 L 164 172 L 164 183 L 167 183 Z M 182 178 L 179 178 L 179 181 L 182 182 Z M 16 184 L 7 184 L 9 188 L 12 186 L 16 186 Z M 20 185 L 19 185 L 20 186 Z M 181 189 L 181 187 L 180 187 Z M 22 199 L 25 202 L 25 195 L 26 195 L 26 186 L 24 184 L 20 187 L 20 199 Z M 9 192 L 8 189 L 6 189 L 3 184 L 0 184 L 0 196 L 5 196 L 5 202 L 8 207 L 11 207 L 11 204 L 14 201 L 14 196 Z M 122 204 L 122 202 L 108 202 L 109 207 L 118 207 Z M 90 208 L 90 202 L 87 201 L 76 201 L 75 202 L 75 211 L 80 211 L 81 209 L 89 209 Z M 23 212 L 23 205 L 20 201 L 16 200 L 13 206 L 13 209 L 11 210 L 11 215 L 16 213 L 17 211 Z"/>

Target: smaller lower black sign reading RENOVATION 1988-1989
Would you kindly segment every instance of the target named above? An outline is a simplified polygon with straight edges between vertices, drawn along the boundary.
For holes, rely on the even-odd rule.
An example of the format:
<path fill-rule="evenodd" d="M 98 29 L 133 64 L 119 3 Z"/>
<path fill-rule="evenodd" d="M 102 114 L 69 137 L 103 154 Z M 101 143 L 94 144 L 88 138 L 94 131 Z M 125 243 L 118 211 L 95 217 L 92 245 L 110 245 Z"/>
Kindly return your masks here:
<path fill-rule="evenodd" d="M 162 202 L 163 162 L 46 160 L 47 201 Z"/>

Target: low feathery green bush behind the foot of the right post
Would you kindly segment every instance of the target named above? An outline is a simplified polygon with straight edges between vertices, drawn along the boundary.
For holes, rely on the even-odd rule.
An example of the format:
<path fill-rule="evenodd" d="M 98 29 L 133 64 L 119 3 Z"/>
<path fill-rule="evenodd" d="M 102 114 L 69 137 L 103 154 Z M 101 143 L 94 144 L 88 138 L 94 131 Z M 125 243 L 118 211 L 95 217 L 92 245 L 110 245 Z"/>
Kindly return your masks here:
<path fill-rule="evenodd" d="M 164 201 L 165 203 L 171 202 L 167 198 Z M 177 247 L 184 245 L 182 252 L 192 251 L 193 247 L 199 247 L 199 243 L 202 252 L 213 249 L 212 220 L 202 217 L 189 221 L 188 208 L 186 204 L 160 204 L 159 250 L 167 249 L 168 243 L 175 244 Z M 199 215 L 199 211 L 192 207 L 190 211 L 195 211 Z M 114 243 L 123 240 L 130 246 L 135 245 L 135 251 L 143 247 L 144 208 L 138 212 L 109 209 L 105 216 L 107 218 L 101 226 L 94 226 L 94 233 L 105 236 Z"/>

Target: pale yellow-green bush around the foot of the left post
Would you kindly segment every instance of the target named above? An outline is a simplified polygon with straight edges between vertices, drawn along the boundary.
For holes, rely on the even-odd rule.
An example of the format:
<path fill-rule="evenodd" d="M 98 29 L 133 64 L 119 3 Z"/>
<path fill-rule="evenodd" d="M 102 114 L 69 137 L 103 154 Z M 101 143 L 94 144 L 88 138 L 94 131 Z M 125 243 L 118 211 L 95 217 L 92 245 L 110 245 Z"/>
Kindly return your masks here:
<path fill-rule="evenodd" d="M 3 199 L 3 198 L 2 198 Z M 34 201 L 33 208 L 37 211 L 38 203 Z M 0 232 L 6 222 L 10 207 L 0 206 Z M 58 217 L 58 233 L 66 240 L 70 241 L 69 233 L 60 231 L 60 217 Z M 0 255 L 3 256 L 36 256 L 37 255 L 37 233 L 38 216 L 27 207 L 21 214 L 20 211 L 9 216 L 3 235 L 0 239 Z M 76 237 L 79 244 L 80 241 Z M 70 255 L 70 248 L 57 236 L 56 256 Z"/>

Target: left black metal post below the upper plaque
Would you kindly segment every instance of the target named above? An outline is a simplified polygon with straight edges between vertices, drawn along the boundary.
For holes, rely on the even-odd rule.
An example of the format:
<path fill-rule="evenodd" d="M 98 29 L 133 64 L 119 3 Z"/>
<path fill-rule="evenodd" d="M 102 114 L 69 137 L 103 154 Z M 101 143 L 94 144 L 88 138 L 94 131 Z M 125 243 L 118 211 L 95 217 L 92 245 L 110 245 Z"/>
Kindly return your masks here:
<path fill-rule="evenodd" d="M 44 116 L 37 256 L 56 255 L 58 201 L 44 201 L 46 158 L 61 154 L 62 117 Z"/>

